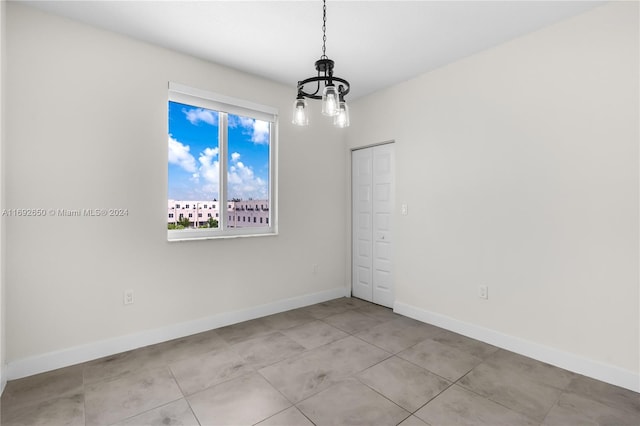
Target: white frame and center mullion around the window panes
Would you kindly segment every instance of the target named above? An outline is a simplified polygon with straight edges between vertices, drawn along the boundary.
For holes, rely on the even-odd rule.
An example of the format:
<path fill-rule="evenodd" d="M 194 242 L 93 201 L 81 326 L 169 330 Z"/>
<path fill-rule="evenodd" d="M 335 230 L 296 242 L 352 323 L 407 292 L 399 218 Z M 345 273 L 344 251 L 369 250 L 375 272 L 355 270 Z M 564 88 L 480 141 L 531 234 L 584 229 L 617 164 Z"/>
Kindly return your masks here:
<path fill-rule="evenodd" d="M 168 100 L 199 108 L 206 108 L 219 113 L 219 147 L 218 159 L 220 162 L 220 189 L 217 204 L 227 206 L 227 116 L 228 114 L 250 117 L 262 121 L 268 121 L 269 125 L 269 218 L 266 226 L 250 228 L 228 228 L 227 214 L 220 214 L 218 228 L 167 230 L 168 241 L 192 241 L 219 238 L 256 237 L 278 234 L 278 110 L 277 108 L 221 95 L 206 90 L 196 89 L 183 84 L 169 82 Z M 168 132 L 167 122 L 167 132 Z M 168 162 L 168 161 L 167 161 Z M 168 175 L 167 175 L 168 185 Z M 165 191 L 168 193 L 168 191 Z M 166 202 L 164 203 L 166 206 Z M 226 213 L 219 210 L 219 213 Z M 166 216 L 165 216 L 166 217 Z M 165 225 L 166 229 L 166 225 Z"/>

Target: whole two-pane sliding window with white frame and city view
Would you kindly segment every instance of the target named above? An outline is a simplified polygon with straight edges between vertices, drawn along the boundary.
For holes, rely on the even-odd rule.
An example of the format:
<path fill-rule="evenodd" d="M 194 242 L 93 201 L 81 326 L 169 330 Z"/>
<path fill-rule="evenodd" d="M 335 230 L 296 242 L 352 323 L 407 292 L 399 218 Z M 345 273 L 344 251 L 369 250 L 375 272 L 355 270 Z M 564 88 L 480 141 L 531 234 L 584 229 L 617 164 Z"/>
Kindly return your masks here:
<path fill-rule="evenodd" d="M 198 209 L 209 206 L 221 219 L 169 222 L 168 239 L 276 234 L 269 224 L 276 221 L 249 226 L 236 216 L 246 200 L 275 215 L 277 110 L 169 83 L 168 118 L 167 198 L 176 207 L 193 205 L 198 217 Z M 214 201 L 229 214 L 219 215 Z"/>

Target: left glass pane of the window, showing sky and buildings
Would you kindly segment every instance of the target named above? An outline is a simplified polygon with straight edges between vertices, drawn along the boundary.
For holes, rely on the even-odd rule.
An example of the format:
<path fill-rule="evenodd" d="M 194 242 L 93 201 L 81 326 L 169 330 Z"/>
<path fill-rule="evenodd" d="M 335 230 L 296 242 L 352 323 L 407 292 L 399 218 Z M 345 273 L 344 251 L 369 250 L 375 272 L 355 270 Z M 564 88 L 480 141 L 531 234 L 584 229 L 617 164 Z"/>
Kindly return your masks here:
<path fill-rule="evenodd" d="M 169 101 L 169 229 L 218 227 L 198 220 L 203 204 L 220 197 L 218 123 L 217 111 Z"/>

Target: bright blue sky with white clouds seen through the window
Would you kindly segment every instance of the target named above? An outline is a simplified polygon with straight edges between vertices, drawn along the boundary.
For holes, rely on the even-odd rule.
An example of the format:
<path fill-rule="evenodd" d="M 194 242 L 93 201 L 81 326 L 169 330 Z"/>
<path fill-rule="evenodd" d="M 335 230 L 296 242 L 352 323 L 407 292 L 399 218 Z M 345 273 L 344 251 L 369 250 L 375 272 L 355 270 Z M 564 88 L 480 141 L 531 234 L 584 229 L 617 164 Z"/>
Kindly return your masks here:
<path fill-rule="evenodd" d="M 172 200 L 219 199 L 218 113 L 169 102 L 169 193 Z M 228 194 L 269 195 L 269 123 L 229 114 Z"/>

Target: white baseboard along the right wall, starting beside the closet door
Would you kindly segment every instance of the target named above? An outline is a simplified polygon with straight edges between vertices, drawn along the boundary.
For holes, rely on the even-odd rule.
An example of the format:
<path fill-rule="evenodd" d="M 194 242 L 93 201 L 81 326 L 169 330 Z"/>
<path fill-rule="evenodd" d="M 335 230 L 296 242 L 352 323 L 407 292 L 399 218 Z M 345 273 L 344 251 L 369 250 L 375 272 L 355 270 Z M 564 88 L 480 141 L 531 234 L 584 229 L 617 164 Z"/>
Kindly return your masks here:
<path fill-rule="evenodd" d="M 640 392 L 640 374 L 396 302 L 394 312 L 612 385 Z"/>

